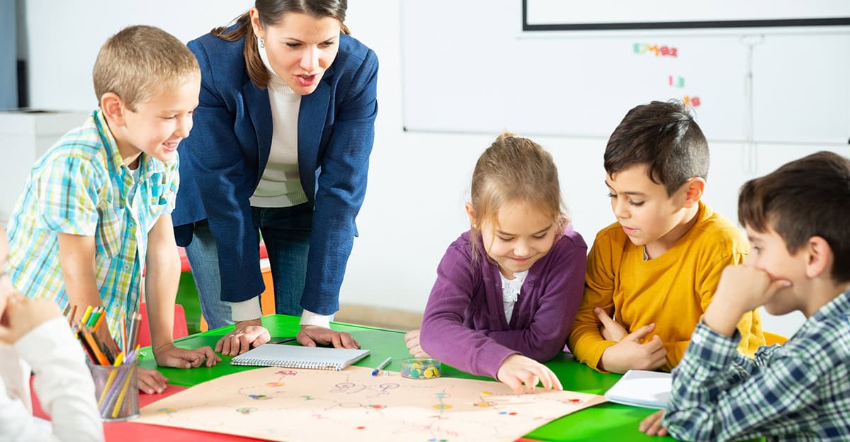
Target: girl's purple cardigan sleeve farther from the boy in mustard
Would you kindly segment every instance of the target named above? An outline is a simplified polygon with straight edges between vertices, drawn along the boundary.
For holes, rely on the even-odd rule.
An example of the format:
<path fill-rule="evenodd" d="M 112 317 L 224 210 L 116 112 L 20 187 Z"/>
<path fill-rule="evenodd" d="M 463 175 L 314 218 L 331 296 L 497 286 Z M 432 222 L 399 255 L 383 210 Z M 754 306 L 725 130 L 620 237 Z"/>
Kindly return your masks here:
<path fill-rule="evenodd" d="M 479 265 L 473 269 L 466 241 L 449 246 L 437 268 L 419 339 L 433 358 L 458 370 L 495 378 L 502 361 L 517 352 L 463 323 L 467 307 L 477 298 L 474 291 L 481 286 Z"/>

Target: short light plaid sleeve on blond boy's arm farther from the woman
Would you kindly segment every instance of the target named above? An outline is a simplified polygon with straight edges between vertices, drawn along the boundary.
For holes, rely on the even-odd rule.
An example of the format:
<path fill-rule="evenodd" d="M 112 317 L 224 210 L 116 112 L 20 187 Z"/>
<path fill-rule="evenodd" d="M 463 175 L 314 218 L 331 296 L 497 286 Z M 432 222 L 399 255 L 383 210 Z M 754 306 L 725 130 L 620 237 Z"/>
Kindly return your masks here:
<path fill-rule="evenodd" d="M 37 192 L 37 228 L 94 236 L 98 194 L 89 161 L 57 156 L 34 170 L 32 179 Z"/>

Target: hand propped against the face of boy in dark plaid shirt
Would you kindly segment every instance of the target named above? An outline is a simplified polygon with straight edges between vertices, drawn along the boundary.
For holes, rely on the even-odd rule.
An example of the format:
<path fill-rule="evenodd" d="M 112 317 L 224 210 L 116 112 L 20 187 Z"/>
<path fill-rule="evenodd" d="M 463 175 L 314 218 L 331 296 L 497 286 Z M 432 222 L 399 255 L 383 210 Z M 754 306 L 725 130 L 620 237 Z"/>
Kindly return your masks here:
<path fill-rule="evenodd" d="M 751 265 L 729 265 L 723 269 L 717 292 L 703 320 L 725 336 L 734 335 L 741 315 L 767 303 L 776 292 L 791 286 L 789 280 L 770 280 L 770 275 Z"/>

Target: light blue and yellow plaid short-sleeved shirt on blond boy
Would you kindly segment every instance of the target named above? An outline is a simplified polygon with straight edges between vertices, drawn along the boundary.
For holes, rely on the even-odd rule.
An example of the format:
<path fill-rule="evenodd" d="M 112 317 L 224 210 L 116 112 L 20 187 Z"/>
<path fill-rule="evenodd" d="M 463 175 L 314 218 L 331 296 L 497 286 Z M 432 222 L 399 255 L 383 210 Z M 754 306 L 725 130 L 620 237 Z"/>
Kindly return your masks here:
<path fill-rule="evenodd" d="M 148 232 L 172 212 L 179 184 L 177 156 L 163 163 L 142 154 L 139 167 L 129 204 L 136 184 L 101 112 L 65 133 L 32 167 L 12 212 L 8 272 L 14 286 L 65 308 L 57 233 L 94 236 L 94 274 L 116 336 L 121 314 L 139 309 Z"/>

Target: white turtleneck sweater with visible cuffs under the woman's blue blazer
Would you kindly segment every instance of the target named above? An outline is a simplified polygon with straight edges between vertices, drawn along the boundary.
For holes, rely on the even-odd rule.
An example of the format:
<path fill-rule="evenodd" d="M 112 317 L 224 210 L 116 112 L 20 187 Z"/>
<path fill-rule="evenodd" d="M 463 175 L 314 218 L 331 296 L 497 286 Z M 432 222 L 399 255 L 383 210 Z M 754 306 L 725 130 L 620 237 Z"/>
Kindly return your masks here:
<path fill-rule="evenodd" d="M 271 74 L 269 81 L 269 105 L 271 105 L 272 135 L 269 163 L 254 195 L 252 207 L 291 207 L 307 202 L 307 194 L 301 186 L 298 174 L 298 111 L 301 95 L 295 93 L 269 63 L 269 55 L 262 45 L 257 45 L 260 59 Z M 254 320 L 263 315 L 259 297 L 240 303 L 230 303 L 233 320 Z M 301 325 L 331 325 L 333 315 L 315 314 L 309 310 L 301 313 Z"/>

